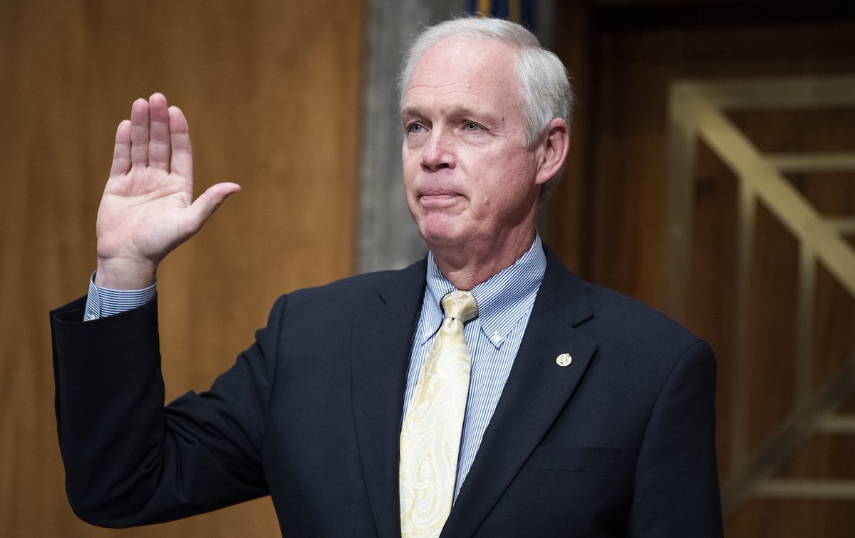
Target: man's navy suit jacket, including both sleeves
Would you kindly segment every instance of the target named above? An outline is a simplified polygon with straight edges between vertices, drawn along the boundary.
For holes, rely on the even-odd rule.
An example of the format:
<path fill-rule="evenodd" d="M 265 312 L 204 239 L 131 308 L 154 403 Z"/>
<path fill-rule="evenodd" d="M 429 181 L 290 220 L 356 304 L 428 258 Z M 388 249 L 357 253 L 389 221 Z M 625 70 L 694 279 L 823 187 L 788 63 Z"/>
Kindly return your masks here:
<path fill-rule="evenodd" d="M 711 349 L 547 257 L 442 536 L 721 535 Z M 156 302 L 86 323 L 84 299 L 52 312 L 74 511 L 128 526 L 270 494 L 283 535 L 399 535 L 398 434 L 424 288 L 422 260 L 283 295 L 208 392 L 166 407 Z"/>

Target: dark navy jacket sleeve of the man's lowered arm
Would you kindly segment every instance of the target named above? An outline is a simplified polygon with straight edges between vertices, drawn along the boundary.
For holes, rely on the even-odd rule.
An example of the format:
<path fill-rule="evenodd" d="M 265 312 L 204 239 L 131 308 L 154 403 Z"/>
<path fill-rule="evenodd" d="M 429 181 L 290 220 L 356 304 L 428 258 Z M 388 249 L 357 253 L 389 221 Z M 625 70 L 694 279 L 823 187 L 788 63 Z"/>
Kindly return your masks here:
<path fill-rule="evenodd" d="M 697 342 L 677 360 L 644 434 L 629 536 L 722 535 L 716 463 L 716 358 Z"/>

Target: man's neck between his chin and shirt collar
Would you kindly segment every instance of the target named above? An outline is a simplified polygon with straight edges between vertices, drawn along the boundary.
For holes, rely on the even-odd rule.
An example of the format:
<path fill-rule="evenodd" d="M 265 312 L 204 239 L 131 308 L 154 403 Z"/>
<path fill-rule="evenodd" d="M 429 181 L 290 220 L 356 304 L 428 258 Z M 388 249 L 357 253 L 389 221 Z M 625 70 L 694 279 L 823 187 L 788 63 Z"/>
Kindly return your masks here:
<path fill-rule="evenodd" d="M 534 242 L 534 226 L 527 230 L 498 237 L 481 249 L 471 245 L 431 247 L 433 260 L 454 287 L 463 291 L 475 288 L 493 275 L 512 266 Z"/>

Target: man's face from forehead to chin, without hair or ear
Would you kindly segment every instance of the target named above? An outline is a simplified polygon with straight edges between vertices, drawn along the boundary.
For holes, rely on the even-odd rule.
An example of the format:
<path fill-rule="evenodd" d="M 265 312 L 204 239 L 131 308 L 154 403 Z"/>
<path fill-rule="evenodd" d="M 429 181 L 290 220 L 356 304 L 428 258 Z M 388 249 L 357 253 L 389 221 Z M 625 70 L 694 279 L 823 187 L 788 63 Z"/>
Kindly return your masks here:
<path fill-rule="evenodd" d="M 526 149 L 515 50 L 447 39 L 404 93 L 404 187 L 431 249 L 492 249 L 534 230 L 538 152 Z M 531 237 L 528 237 L 529 239 Z"/>

